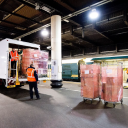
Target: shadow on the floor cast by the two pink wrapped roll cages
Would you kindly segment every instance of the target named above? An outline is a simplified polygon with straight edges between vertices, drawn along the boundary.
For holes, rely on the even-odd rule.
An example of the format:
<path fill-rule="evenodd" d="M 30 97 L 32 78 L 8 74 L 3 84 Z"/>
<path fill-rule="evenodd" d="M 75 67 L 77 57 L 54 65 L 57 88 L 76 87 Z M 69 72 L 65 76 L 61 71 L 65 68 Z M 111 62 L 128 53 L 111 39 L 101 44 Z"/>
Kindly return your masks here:
<path fill-rule="evenodd" d="M 90 101 L 82 101 L 76 107 L 74 107 L 69 114 L 81 117 L 87 120 L 97 120 L 98 118 L 102 118 L 105 114 L 107 120 L 113 124 L 121 124 L 123 126 L 128 126 L 128 106 L 121 105 L 120 103 L 116 103 L 116 107 L 113 108 L 113 105 L 109 103 L 107 106 L 104 106 L 103 101 L 93 100 L 91 104 Z M 102 121 L 104 122 L 103 118 Z"/>

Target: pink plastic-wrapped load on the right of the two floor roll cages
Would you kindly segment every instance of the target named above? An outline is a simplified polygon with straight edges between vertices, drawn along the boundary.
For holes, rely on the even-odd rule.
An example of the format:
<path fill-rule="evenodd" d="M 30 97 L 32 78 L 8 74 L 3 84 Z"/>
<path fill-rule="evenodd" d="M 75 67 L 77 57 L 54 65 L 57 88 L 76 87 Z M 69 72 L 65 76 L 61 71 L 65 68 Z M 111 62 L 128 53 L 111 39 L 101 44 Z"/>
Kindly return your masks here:
<path fill-rule="evenodd" d="M 102 67 L 102 99 L 107 102 L 119 102 L 123 98 L 122 64 Z"/>

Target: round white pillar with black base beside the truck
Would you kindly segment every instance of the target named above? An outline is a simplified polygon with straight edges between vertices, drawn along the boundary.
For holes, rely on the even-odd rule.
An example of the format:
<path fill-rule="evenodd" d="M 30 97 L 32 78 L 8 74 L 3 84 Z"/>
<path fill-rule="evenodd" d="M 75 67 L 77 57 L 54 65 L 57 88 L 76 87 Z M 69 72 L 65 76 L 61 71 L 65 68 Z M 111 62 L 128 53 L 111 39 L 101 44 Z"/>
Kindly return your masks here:
<path fill-rule="evenodd" d="M 51 17 L 51 86 L 61 87 L 62 84 L 62 48 L 61 48 L 61 16 Z"/>

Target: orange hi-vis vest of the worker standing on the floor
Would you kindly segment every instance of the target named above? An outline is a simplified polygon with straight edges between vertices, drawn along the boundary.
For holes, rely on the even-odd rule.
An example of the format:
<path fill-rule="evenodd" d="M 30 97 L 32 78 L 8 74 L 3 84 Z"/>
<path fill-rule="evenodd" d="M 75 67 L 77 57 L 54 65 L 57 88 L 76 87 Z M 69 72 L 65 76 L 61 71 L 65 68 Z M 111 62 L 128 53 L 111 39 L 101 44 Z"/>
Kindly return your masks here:
<path fill-rule="evenodd" d="M 36 78 L 34 76 L 34 71 L 35 71 L 35 69 L 33 69 L 33 68 L 27 69 L 27 76 L 28 76 L 27 79 L 29 82 L 36 82 Z"/>

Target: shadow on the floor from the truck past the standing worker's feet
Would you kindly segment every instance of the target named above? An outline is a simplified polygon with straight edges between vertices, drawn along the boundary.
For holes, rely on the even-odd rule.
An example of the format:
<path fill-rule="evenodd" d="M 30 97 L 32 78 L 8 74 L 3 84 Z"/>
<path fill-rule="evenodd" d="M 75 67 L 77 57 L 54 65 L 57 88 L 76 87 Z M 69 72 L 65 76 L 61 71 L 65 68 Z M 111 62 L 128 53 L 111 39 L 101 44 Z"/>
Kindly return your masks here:
<path fill-rule="evenodd" d="M 34 106 L 41 110 L 53 110 L 56 107 L 56 103 L 52 96 L 39 93 L 41 99 L 36 100 L 36 96 L 33 95 L 33 100 L 30 100 L 29 90 L 23 88 L 2 88 L 0 93 L 11 98 L 3 97 L 2 101 L 7 101 L 11 103 L 12 99 L 18 100 L 20 102 L 26 103 L 30 106 Z M 17 102 L 18 103 L 18 102 Z M 54 111 L 54 110 L 53 110 Z"/>

